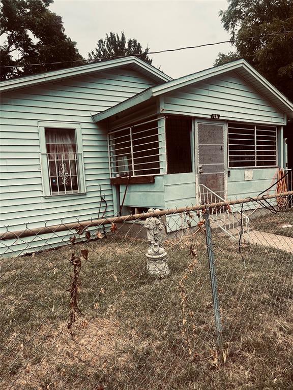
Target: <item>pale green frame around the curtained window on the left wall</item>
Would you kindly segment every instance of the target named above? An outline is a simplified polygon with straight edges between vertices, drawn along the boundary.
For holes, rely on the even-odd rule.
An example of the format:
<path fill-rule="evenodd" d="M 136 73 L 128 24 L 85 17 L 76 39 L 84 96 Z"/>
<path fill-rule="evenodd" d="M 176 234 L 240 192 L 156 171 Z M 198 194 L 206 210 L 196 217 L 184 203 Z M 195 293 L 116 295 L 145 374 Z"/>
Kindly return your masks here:
<path fill-rule="evenodd" d="M 78 157 L 78 180 L 79 191 L 68 193 L 51 193 L 50 181 L 49 181 L 49 169 L 47 163 L 47 147 L 46 147 L 46 135 L 45 128 L 68 128 L 75 132 L 76 141 L 76 154 Z M 86 193 L 85 175 L 84 175 L 84 161 L 83 161 L 83 149 L 82 149 L 82 134 L 81 125 L 76 122 L 55 122 L 55 121 L 38 121 L 39 140 L 40 140 L 40 166 L 41 177 L 44 198 L 51 197 L 68 197 L 79 196 Z"/>

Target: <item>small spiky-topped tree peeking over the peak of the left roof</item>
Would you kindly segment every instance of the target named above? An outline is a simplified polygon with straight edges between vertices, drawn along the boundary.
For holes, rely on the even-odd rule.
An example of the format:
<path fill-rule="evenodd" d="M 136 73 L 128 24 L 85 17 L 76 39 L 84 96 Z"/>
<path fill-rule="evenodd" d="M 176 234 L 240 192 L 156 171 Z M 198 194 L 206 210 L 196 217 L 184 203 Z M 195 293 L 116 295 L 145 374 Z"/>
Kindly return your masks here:
<path fill-rule="evenodd" d="M 126 42 L 125 34 L 122 31 L 121 37 L 118 34 L 114 34 L 110 31 L 110 34 L 106 34 L 106 39 L 99 39 L 97 47 L 89 53 L 90 59 L 107 59 L 112 57 L 125 57 L 127 55 L 141 54 L 138 57 L 152 63 L 152 59 L 149 58 L 148 52 L 150 48 L 142 50 L 141 44 L 136 39 L 129 38 Z"/>

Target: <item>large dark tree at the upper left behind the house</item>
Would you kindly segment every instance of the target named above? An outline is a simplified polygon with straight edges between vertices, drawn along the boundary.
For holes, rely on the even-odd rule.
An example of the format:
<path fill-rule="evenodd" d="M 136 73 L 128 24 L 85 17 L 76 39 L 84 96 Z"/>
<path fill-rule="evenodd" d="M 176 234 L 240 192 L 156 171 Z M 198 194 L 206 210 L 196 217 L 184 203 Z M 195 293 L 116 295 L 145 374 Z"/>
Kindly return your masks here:
<path fill-rule="evenodd" d="M 66 68 L 82 57 L 64 33 L 61 16 L 48 7 L 53 0 L 2 0 L 0 15 L 1 80 Z M 47 62 L 63 62 L 46 64 Z M 42 66 L 32 66 L 42 63 Z M 77 62 L 76 64 L 81 64 Z"/>

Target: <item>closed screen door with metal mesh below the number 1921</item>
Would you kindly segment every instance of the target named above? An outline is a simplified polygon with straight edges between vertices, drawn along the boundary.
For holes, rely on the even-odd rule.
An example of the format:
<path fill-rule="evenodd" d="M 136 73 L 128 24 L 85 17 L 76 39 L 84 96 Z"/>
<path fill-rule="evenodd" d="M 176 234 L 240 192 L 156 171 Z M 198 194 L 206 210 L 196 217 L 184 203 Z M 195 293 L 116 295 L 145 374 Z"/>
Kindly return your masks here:
<path fill-rule="evenodd" d="M 198 183 L 224 199 L 224 125 L 198 122 L 197 134 Z"/>

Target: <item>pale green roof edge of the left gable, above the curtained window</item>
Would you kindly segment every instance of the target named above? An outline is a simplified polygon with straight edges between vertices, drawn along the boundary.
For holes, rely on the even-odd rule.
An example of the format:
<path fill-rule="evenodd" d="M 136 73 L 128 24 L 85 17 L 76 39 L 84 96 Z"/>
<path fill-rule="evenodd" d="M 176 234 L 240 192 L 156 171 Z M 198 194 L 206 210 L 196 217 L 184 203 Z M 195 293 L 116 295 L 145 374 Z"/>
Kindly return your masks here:
<path fill-rule="evenodd" d="M 150 77 L 157 83 L 172 80 L 171 77 L 165 75 L 162 71 L 153 67 L 147 62 L 144 62 L 137 57 L 129 56 L 91 63 L 75 68 L 39 73 L 37 75 L 24 76 L 16 79 L 2 81 L 0 83 L 0 92 L 8 92 L 21 88 L 34 87 L 40 84 L 46 84 L 49 82 L 64 80 L 72 77 L 90 75 L 96 72 L 108 71 L 123 66 L 128 66 L 131 69 L 137 70 L 145 76 Z"/>

